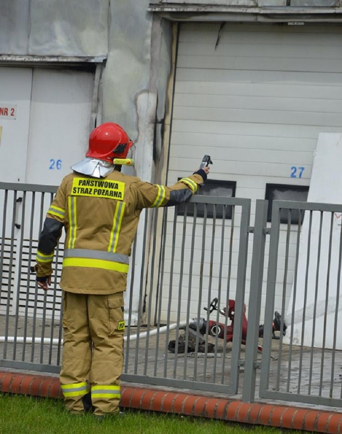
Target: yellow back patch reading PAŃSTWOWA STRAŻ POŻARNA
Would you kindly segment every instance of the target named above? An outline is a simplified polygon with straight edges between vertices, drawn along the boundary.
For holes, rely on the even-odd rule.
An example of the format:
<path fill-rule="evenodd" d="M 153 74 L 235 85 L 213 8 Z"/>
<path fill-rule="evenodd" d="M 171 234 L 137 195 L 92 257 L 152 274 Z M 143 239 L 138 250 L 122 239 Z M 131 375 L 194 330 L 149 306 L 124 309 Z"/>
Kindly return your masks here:
<path fill-rule="evenodd" d="M 121 181 L 103 181 L 94 178 L 75 177 L 72 180 L 72 196 L 104 197 L 124 200 L 125 183 Z"/>

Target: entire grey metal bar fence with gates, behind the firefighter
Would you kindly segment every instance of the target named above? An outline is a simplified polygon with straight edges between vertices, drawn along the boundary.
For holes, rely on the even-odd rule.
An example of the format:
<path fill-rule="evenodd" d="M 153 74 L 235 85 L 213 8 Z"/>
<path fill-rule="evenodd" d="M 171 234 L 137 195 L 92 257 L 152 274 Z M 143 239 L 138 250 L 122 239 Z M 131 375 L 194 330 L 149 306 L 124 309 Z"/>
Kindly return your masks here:
<path fill-rule="evenodd" d="M 59 372 L 63 238 L 52 289 L 28 272 L 54 192 L 0 184 L 3 367 Z M 124 381 L 342 406 L 342 206 L 274 201 L 267 223 L 267 205 L 257 200 L 253 215 L 249 199 L 195 195 L 142 214 L 125 295 Z"/>

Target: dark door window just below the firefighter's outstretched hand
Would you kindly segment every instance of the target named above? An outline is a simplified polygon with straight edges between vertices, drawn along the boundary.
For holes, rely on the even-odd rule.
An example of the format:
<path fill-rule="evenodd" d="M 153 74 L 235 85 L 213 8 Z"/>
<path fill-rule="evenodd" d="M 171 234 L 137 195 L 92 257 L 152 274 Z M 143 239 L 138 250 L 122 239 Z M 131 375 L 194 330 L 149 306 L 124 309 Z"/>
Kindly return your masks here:
<path fill-rule="evenodd" d="M 181 178 L 179 178 L 181 179 Z M 178 180 L 179 180 L 178 179 Z M 208 179 L 205 184 L 199 189 L 196 194 L 201 196 L 220 196 L 220 197 L 235 197 L 236 182 L 235 181 L 216 181 Z M 186 207 L 186 215 L 193 217 L 195 204 L 188 203 L 178 205 L 177 215 L 184 215 Z M 197 204 L 197 217 L 204 217 L 205 204 Z M 223 205 L 216 205 L 216 218 L 223 218 Z M 228 205 L 225 207 L 225 218 L 231 219 L 232 207 Z M 213 218 L 214 205 L 207 204 L 207 217 Z"/>

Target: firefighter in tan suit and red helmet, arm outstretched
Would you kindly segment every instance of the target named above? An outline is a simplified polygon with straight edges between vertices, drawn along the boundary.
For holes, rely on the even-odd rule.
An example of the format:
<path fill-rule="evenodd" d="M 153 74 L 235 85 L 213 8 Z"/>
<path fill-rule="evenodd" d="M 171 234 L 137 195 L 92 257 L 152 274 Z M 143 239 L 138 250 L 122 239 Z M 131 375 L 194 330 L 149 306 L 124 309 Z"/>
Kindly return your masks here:
<path fill-rule="evenodd" d="M 126 159 L 132 144 L 120 125 L 95 128 L 85 160 L 62 180 L 39 237 L 34 268 L 39 286 L 47 290 L 65 228 L 60 382 L 65 406 L 75 414 L 119 412 L 124 291 L 141 211 L 189 200 L 209 170 L 200 169 L 172 187 L 140 181 L 113 162 Z"/>

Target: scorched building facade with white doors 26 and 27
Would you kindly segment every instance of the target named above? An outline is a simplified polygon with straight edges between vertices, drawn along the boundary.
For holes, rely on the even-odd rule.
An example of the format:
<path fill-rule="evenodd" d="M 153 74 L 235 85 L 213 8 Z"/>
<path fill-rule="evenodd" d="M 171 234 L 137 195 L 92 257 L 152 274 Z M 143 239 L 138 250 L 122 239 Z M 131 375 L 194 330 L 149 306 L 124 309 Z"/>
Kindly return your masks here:
<path fill-rule="evenodd" d="M 135 141 L 131 173 L 143 180 L 176 182 L 209 154 L 207 194 L 251 198 L 251 224 L 256 199 L 306 200 L 319 132 L 342 129 L 341 3 L 5 0 L 0 181 L 59 184 L 83 157 L 89 131 L 113 121 Z M 140 258 L 143 225 L 142 219 Z M 291 228 L 295 237 L 295 219 Z M 208 252 L 209 246 L 206 258 Z M 233 257 L 233 283 L 236 262 Z M 167 273 L 167 255 L 165 267 Z M 176 258 L 174 312 L 179 268 Z M 293 269 L 294 251 L 289 296 Z M 139 286 L 136 281 L 135 294 Z M 235 290 L 232 284 L 231 298 Z M 278 290 L 279 309 L 281 281 Z M 164 316 L 167 306 L 166 297 Z"/>

